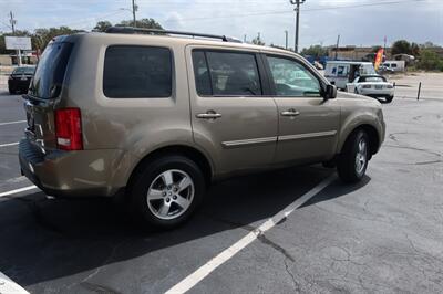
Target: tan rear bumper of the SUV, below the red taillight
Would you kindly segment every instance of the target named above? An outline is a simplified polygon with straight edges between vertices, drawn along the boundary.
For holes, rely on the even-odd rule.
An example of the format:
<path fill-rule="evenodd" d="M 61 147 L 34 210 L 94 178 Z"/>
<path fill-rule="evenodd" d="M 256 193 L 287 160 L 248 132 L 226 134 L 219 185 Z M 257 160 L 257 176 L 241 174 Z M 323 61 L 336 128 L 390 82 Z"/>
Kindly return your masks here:
<path fill-rule="evenodd" d="M 126 185 L 121 172 L 127 172 L 125 166 L 120 169 L 114 166 L 119 159 L 122 151 L 114 149 L 45 153 L 29 139 L 19 145 L 22 174 L 47 195 L 55 197 L 116 195 Z"/>

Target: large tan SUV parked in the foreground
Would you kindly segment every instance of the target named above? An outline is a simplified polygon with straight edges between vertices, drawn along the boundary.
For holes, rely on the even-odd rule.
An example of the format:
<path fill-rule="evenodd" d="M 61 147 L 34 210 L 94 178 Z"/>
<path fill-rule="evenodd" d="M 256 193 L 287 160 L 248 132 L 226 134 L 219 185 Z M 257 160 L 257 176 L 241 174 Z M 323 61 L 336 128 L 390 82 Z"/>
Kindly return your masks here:
<path fill-rule="evenodd" d="M 363 178 L 384 139 L 379 102 L 337 94 L 289 51 L 177 34 L 53 39 L 24 96 L 22 172 L 55 197 L 123 197 L 162 228 L 239 174 L 324 162 L 346 182 Z"/>

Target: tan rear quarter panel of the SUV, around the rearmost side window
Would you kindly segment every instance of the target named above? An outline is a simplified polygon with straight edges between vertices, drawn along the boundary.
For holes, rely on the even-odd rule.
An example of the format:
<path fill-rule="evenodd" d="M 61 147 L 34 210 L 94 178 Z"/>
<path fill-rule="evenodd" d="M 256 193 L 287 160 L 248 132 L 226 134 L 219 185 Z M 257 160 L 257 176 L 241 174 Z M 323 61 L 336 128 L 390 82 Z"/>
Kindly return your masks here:
<path fill-rule="evenodd" d="M 103 70 L 110 45 L 164 46 L 173 56 L 171 97 L 110 98 L 103 93 Z M 115 186 L 125 186 L 137 162 L 165 145 L 192 145 L 189 97 L 184 46 L 168 38 L 90 34 L 78 42 L 75 64 L 68 76 L 66 97 L 59 107 L 79 107 L 85 149 L 116 149 L 107 171 Z M 91 158 L 91 161 L 96 158 Z M 85 170 L 87 172 L 87 170 Z M 106 172 L 106 171 L 104 171 Z"/>

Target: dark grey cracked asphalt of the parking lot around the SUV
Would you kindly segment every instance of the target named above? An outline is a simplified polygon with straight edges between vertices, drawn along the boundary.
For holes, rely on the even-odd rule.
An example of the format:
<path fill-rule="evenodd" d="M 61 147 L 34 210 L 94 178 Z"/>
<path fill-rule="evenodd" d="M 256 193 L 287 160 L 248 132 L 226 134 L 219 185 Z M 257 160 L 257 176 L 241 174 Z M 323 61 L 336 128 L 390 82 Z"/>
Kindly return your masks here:
<path fill-rule="evenodd" d="M 385 141 L 359 185 L 344 186 L 321 166 L 230 179 L 169 232 L 141 231 L 106 199 L 8 193 L 31 183 L 14 145 L 22 101 L 0 90 L 0 272 L 31 293 L 163 293 L 184 283 L 189 293 L 442 293 L 439 81 L 396 81 L 394 101 L 383 104 Z M 272 228 L 256 230 L 322 182 Z M 257 238 L 234 254 L 251 232 Z M 222 252 L 234 253 L 214 266 Z M 199 269 L 203 279 L 193 275 Z"/>

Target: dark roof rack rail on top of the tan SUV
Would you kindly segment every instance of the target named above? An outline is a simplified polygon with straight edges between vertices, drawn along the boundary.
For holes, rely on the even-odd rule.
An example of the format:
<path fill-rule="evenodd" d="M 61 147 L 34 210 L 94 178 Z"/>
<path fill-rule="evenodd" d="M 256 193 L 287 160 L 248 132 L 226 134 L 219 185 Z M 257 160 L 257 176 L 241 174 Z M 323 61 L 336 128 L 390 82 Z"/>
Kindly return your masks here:
<path fill-rule="evenodd" d="M 240 40 L 236 38 L 230 38 L 226 35 L 217 35 L 217 34 L 207 34 L 207 33 L 193 33 L 193 32 L 182 32 L 182 31 L 169 31 L 169 30 L 158 30 L 158 29 L 144 29 L 144 28 L 134 28 L 134 27 L 110 27 L 105 31 L 106 33 L 125 33 L 125 34 L 178 34 L 178 35 L 189 35 L 189 36 L 199 36 L 199 38 L 208 38 L 208 39 L 220 39 L 224 42 L 234 42 L 234 43 L 243 43 Z"/>

